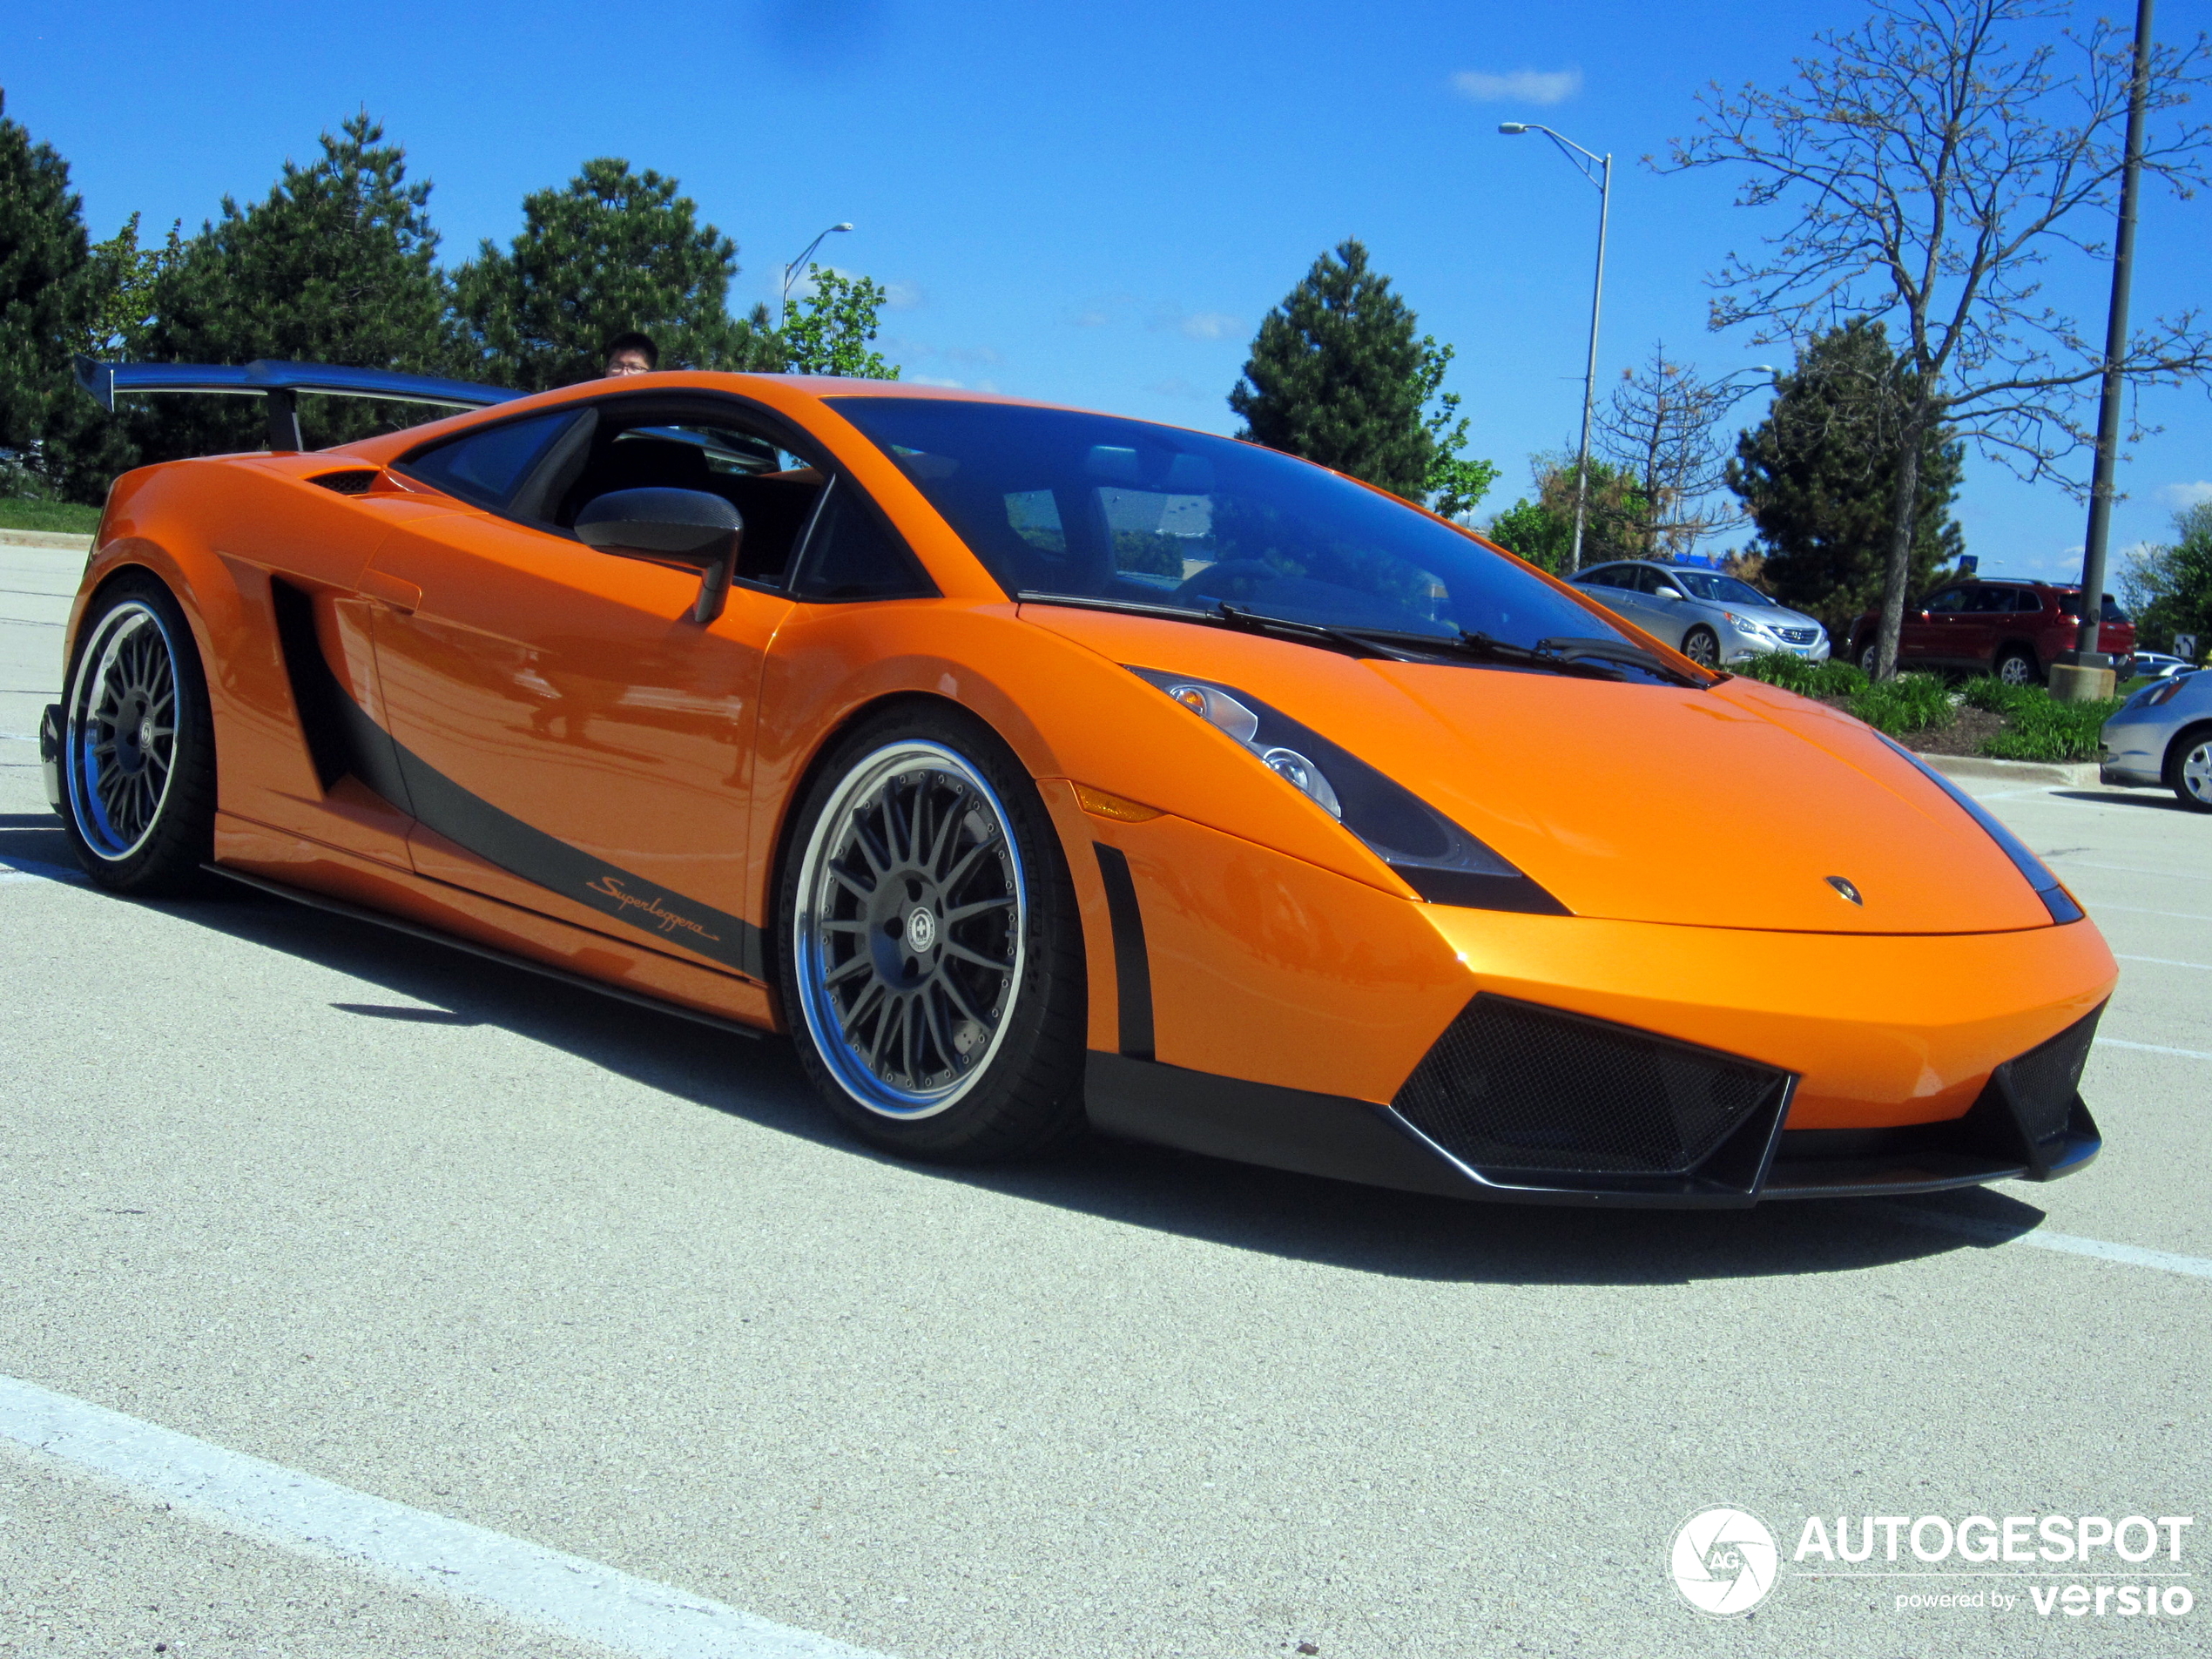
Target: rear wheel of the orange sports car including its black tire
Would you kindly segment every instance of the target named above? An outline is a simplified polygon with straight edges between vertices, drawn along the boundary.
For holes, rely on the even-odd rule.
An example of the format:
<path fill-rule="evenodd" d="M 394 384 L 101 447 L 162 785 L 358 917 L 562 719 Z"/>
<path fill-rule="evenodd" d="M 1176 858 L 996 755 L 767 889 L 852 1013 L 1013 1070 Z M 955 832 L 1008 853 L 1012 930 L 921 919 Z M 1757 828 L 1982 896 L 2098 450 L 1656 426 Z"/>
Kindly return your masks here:
<path fill-rule="evenodd" d="M 77 630 L 62 692 L 62 825 L 84 874 L 133 898 L 199 889 L 215 856 L 208 681 L 184 608 L 146 571 L 108 582 Z"/>

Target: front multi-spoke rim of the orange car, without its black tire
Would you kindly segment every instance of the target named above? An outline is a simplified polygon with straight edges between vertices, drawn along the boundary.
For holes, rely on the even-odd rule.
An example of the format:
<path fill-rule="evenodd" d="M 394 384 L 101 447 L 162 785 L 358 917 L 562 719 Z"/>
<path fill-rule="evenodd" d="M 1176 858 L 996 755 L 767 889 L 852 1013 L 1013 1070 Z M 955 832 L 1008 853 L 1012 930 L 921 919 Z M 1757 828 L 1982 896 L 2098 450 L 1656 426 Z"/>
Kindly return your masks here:
<path fill-rule="evenodd" d="M 838 1082 L 889 1117 L 982 1075 L 1022 984 L 1022 860 L 1006 810 L 938 743 L 854 768 L 799 874 L 799 995 Z"/>

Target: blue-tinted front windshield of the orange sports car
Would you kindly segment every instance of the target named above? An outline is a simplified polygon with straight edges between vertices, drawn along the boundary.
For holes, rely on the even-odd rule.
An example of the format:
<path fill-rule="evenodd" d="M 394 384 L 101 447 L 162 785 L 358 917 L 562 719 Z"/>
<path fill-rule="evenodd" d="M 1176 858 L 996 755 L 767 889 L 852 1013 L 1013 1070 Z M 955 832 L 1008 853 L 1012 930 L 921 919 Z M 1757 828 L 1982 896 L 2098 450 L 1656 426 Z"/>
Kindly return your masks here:
<path fill-rule="evenodd" d="M 1513 646 L 1624 635 L 1427 513 L 1234 438 L 1066 409 L 834 398 L 1024 599 L 1221 602 Z"/>

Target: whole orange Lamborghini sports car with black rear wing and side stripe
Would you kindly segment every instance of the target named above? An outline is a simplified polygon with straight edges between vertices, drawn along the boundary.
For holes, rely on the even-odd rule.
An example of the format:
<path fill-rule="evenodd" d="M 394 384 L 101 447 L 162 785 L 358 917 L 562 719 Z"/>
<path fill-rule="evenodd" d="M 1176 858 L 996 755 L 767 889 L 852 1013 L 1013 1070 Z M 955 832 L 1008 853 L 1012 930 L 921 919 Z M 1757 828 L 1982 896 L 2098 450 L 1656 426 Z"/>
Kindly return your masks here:
<path fill-rule="evenodd" d="M 215 872 L 745 1033 L 914 1157 L 1469 1199 L 2051 1179 L 2115 964 L 1916 757 L 1199 431 L 896 383 L 257 363 L 117 480 L 44 721 Z M 301 392 L 482 405 L 303 453 Z"/>

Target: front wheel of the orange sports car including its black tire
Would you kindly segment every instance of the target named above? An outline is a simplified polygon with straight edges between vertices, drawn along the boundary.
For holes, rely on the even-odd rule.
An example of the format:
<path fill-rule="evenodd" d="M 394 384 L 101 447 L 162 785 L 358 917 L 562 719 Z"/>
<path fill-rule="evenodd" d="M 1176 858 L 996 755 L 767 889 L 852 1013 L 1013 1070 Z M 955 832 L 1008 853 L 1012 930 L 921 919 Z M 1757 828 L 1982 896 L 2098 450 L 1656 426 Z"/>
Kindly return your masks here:
<path fill-rule="evenodd" d="M 949 703 L 816 768 L 776 883 L 785 1022 L 845 1128 L 991 1164 L 1084 1133 L 1082 916 L 1035 779 Z"/>

